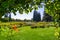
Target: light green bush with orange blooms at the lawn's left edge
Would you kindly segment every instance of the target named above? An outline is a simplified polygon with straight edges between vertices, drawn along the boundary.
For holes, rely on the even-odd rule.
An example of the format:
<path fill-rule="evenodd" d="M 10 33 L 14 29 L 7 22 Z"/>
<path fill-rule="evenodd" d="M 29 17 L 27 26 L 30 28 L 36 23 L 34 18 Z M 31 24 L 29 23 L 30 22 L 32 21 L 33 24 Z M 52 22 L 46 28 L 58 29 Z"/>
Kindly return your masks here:
<path fill-rule="evenodd" d="M 14 37 L 14 35 L 16 35 L 17 32 L 18 32 L 17 29 L 9 28 L 7 26 L 1 26 L 0 27 L 0 39 L 1 40 L 3 40 L 3 38 L 5 38 L 7 40 L 13 39 L 11 37 Z M 1 37 L 3 37 L 3 38 L 1 38 Z"/>

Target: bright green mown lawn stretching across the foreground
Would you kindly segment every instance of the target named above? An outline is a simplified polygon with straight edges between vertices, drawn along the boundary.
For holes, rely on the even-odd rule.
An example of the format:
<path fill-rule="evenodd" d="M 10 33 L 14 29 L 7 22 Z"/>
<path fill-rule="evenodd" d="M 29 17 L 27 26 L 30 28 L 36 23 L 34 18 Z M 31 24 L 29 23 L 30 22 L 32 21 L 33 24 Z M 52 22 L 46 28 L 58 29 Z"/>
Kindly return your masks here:
<path fill-rule="evenodd" d="M 7 36 L 0 34 L 0 40 L 58 40 L 54 33 L 54 27 L 31 29 L 30 26 L 27 26 L 19 28 L 19 32 L 14 33 L 13 31 L 13 35 L 11 33 Z"/>

